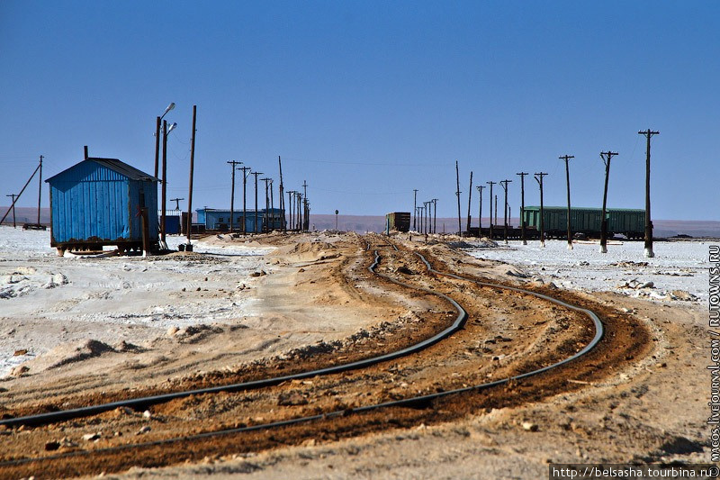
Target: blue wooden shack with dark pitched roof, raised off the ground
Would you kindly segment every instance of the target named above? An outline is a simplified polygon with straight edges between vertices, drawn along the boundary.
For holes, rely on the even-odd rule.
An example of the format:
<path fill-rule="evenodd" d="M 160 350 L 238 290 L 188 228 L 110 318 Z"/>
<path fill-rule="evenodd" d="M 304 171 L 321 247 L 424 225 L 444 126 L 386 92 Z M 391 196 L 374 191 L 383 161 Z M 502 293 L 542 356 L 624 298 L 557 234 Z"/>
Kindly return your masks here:
<path fill-rule="evenodd" d="M 157 182 L 117 158 L 86 158 L 46 182 L 50 245 L 66 249 L 142 249 L 140 209 L 147 207 L 149 242 L 157 244 Z"/>

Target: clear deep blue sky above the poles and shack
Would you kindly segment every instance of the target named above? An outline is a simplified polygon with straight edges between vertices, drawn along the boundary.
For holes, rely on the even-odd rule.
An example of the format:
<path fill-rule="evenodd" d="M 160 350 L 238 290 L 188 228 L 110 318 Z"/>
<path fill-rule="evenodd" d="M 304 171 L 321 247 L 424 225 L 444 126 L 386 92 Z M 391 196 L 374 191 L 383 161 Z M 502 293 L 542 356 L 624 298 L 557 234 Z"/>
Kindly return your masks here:
<path fill-rule="evenodd" d="M 410 211 L 418 188 L 454 216 L 457 159 L 464 212 L 473 170 L 512 179 L 517 214 L 519 171 L 548 172 L 545 204 L 565 203 L 564 154 L 572 203 L 599 206 L 612 149 L 608 205 L 643 208 L 652 128 L 653 217 L 718 220 L 719 74 L 716 1 L 4 0 L 0 204 L 40 154 L 47 178 L 83 145 L 152 173 L 175 102 L 168 196 L 187 198 L 197 104 L 193 207 L 229 207 L 226 161 L 277 178 L 281 155 L 312 213 Z M 19 204 L 36 203 L 34 186 Z"/>

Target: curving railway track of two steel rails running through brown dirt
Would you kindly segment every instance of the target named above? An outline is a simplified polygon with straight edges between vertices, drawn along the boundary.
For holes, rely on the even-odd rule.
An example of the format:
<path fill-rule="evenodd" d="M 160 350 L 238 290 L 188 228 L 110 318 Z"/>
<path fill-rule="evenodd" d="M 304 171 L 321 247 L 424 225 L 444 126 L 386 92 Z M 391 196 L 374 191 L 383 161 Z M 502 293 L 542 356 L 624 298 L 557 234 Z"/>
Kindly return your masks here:
<path fill-rule="evenodd" d="M 423 340 L 416 345 L 413 345 L 411 347 L 400 349 L 388 354 L 376 356 L 374 358 L 366 358 L 364 360 L 356 361 L 356 362 L 350 362 L 344 365 L 338 365 L 334 367 L 326 367 L 326 368 L 320 368 L 320 369 L 314 369 L 307 372 L 302 372 L 295 375 L 290 376 L 277 376 L 273 378 L 267 378 L 264 380 L 258 380 L 253 382 L 246 382 L 246 383 L 240 383 L 240 384 L 234 384 L 234 385 L 222 385 L 218 387 L 213 388 L 206 388 L 206 389 L 193 389 L 186 392 L 177 392 L 173 394 L 164 394 L 164 395 L 155 395 L 151 397 L 144 397 L 144 398 L 137 398 L 132 399 L 128 401 L 121 401 L 121 402 L 115 402 L 115 403 L 105 403 L 103 405 L 95 405 L 91 407 L 81 408 L 81 409 L 73 409 L 69 411 L 63 411 L 63 412 L 49 412 L 49 413 L 42 413 L 40 415 L 28 415 L 23 417 L 18 417 L 14 419 L 4 419 L 0 421 L 0 425 L 4 425 L 5 428 L 17 428 L 20 426 L 40 426 L 44 424 L 51 424 L 59 421 L 67 421 L 69 419 L 77 419 L 80 417 L 87 417 L 90 415 L 97 415 L 101 412 L 108 412 L 112 411 L 118 408 L 131 408 L 133 410 L 138 409 L 145 409 L 148 408 L 151 405 L 157 405 L 160 403 L 168 403 L 171 401 L 175 401 L 178 399 L 183 398 L 189 398 L 193 396 L 199 396 L 199 395 L 210 395 L 210 394 L 229 394 L 229 393 L 237 393 L 241 391 L 247 391 L 251 389 L 261 389 L 273 385 L 281 385 L 288 382 L 293 381 L 302 381 L 302 379 L 307 379 L 311 377 L 316 376 L 333 376 L 337 375 L 343 372 L 348 372 L 350 370 L 357 370 L 357 369 L 366 369 L 368 367 L 377 366 L 379 364 L 385 364 L 387 362 L 390 362 L 392 360 L 407 357 L 411 354 L 418 353 L 419 351 L 423 349 L 428 349 L 430 346 L 437 344 L 437 342 L 440 342 L 441 340 L 444 340 L 448 338 L 449 336 L 452 336 L 457 331 L 460 331 L 463 329 L 465 322 L 467 321 L 467 312 L 464 309 L 464 307 L 455 301 L 453 298 L 448 296 L 447 294 L 443 294 L 436 289 L 426 288 L 418 285 L 411 285 L 410 283 L 403 282 L 401 280 L 398 280 L 397 278 L 394 278 L 393 276 L 386 275 L 383 273 L 380 273 L 379 266 L 383 263 L 383 255 L 381 255 L 380 251 L 383 248 L 389 248 L 392 249 L 392 251 L 399 252 L 401 251 L 398 249 L 397 245 L 395 245 L 393 242 L 389 242 L 388 240 L 383 239 L 382 237 L 380 239 L 377 238 L 371 238 L 373 242 L 376 244 L 373 248 L 373 245 L 371 241 L 367 241 L 366 249 L 374 249 L 374 261 L 372 265 L 369 267 L 370 271 L 374 273 L 376 276 L 381 276 L 383 279 L 392 282 L 395 285 L 398 285 L 402 288 L 407 289 L 413 289 L 416 291 L 422 291 L 425 294 L 434 294 L 437 295 L 437 297 L 441 298 L 444 302 L 450 303 L 453 305 L 456 316 L 455 321 L 449 325 L 444 331 L 441 331 L 437 333 L 436 335 Z M 383 242 L 381 242 L 383 240 Z M 476 385 L 468 385 L 464 386 L 463 388 L 454 388 L 449 389 L 442 392 L 435 392 L 431 394 L 416 394 L 411 395 L 405 398 L 401 398 L 398 400 L 392 400 L 389 402 L 380 402 L 380 403 L 371 403 L 371 404 L 365 404 L 365 405 L 359 405 L 352 408 L 342 408 L 338 410 L 331 410 L 327 412 L 319 412 L 317 414 L 313 415 L 304 415 L 299 416 L 295 418 L 290 419 L 284 419 L 279 421 L 266 421 L 266 422 L 260 422 L 253 425 L 241 425 L 234 428 L 224 428 L 219 430 L 212 430 L 212 431 L 202 431 L 201 433 L 192 434 L 192 435 L 183 435 L 179 437 L 174 438 L 167 438 L 167 439 L 157 439 L 153 441 L 148 442 L 139 442 L 139 443 L 130 443 L 127 445 L 119 445 L 119 446 L 113 446 L 109 448 L 94 448 L 90 450 L 75 450 L 75 451 L 68 451 L 64 453 L 60 453 L 57 455 L 47 455 L 44 457 L 23 457 L 23 458 L 12 458 L 12 459 L 5 459 L 4 461 L 0 462 L 0 474 L 3 473 L 3 471 L 13 471 L 13 472 L 23 472 L 28 473 L 28 475 L 31 475 L 34 473 L 37 475 L 37 468 L 33 468 L 33 466 L 44 466 L 47 464 L 53 464 L 56 463 L 58 465 L 69 465 L 73 464 L 74 459 L 78 459 L 80 457 L 111 457 L 113 455 L 128 455 L 128 452 L 137 452 L 138 450 L 145 450 L 145 451 L 151 451 L 151 450 L 157 450 L 157 448 L 169 448 L 173 445 L 187 445 L 187 444 L 193 444 L 195 442 L 202 442 L 207 441 L 210 439 L 219 439 L 219 438 L 230 438 L 236 435 L 251 435 L 259 432 L 265 432 L 264 434 L 267 435 L 267 432 L 270 431 L 284 431 L 288 429 L 292 429 L 294 427 L 302 426 L 302 425 L 308 425 L 313 422 L 320 422 L 320 423 L 327 423 L 329 421 L 340 421 L 343 423 L 349 423 L 353 424 L 353 420 L 356 417 L 363 417 L 364 415 L 369 415 L 374 412 L 383 412 L 388 411 L 392 409 L 402 409 L 402 408 L 410 408 L 414 410 L 422 410 L 427 409 L 428 405 L 432 405 L 433 403 L 436 403 L 437 401 L 441 401 L 447 398 L 453 398 L 457 397 L 458 395 L 466 395 L 466 394 L 473 394 L 481 391 L 487 391 L 494 387 L 498 387 L 500 385 L 509 385 L 514 382 L 518 382 L 523 379 L 527 379 L 532 376 L 538 376 L 541 374 L 544 374 L 550 370 L 553 370 L 558 367 L 563 367 L 569 362 L 572 362 L 573 360 L 576 360 L 578 358 L 581 358 L 583 355 L 588 354 L 592 349 L 594 349 L 599 341 L 603 337 L 603 323 L 599 319 L 599 315 L 595 312 L 590 311 L 590 309 L 583 308 L 578 305 L 574 305 L 572 303 L 564 302 L 563 300 L 553 298 L 546 294 L 539 294 L 533 291 L 521 289 L 518 287 L 508 286 L 508 285 L 499 285 L 494 284 L 491 282 L 481 281 L 475 278 L 470 278 L 466 276 L 459 276 L 455 275 L 453 273 L 447 273 L 442 272 L 434 268 L 427 258 L 425 258 L 423 255 L 421 255 L 419 252 L 415 252 L 414 255 L 419 258 L 419 261 L 423 263 L 423 265 L 426 267 L 427 272 L 426 274 L 430 274 L 437 277 L 445 277 L 452 280 L 457 281 L 463 281 L 463 282 L 470 282 L 473 285 L 477 285 L 479 287 L 486 287 L 486 288 L 494 288 L 494 289 L 502 289 L 504 291 L 510 292 L 512 294 L 522 294 L 522 295 L 531 295 L 537 299 L 540 299 L 544 302 L 554 303 L 555 305 L 562 307 L 563 309 L 568 309 L 573 312 L 579 312 L 582 315 L 586 315 L 590 321 L 593 324 L 594 327 L 594 335 L 590 342 L 588 342 L 582 349 L 579 351 L 573 353 L 572 355 L 563 358 L 559 361 L 555 361 L 550 365 L 545 365 L 544 367 L 539 367 L 536 369 L 533 369 L 531 371 L 522 372 L 518 375 L 511 375 L 511 376 L 505 376 L 500 379 L 496 379 L 490 382 L 485 382 L 481 384 Z M 410 415 L 411 416 L 411 415 Z M 363 430 L 363 429 L 359 429 Z M 164 462 L 166 460 L 157 459 L 157 462 L 148 462 L 148 465 L 164 465 Z M 85 464 L 87 461 L 85 460 Z M 92 462 L 91 462 L 92 463 Z M 171 462 L 172 463 L 172 462 Z M 124 465 L 124 464 L 123 464 Z M 96 470 L 97 467 L 95 467 Z M 111 469 L 112 466 L 111 466 Z M 92 472 L 92 470 L 91 470 Z M 90 473 L 87 470 L 83 470 L 82 468 L 77 468 L 76 470 L 70 469 L 68 470 L 68 473 L 75 474 L 75 473 Z"/>

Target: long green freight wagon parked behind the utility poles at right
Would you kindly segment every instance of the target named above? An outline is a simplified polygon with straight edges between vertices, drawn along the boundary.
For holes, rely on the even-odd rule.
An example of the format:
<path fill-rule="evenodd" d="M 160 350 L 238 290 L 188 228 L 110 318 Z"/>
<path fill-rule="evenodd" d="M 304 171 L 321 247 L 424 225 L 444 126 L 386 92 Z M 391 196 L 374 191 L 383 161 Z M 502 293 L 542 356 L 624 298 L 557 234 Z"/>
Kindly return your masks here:
<path fill-rule="evenodd" d="M 627 208 L 610 208 L 606 211 L 608 234 L 622 234 L 628 239 L 644 237 L 645 211 Z M 527 206 L 523 215 L 526 226 L 540 230 L 540 207 Z M 544 208 L 545 236 L 547 238 L 565 238 L 568 231 L 568 209 L 560 206 Z M 602 209 L 572 207 L 570 226 L 572 233 L 582 233 L 588 237 L 599 237 Z"/>

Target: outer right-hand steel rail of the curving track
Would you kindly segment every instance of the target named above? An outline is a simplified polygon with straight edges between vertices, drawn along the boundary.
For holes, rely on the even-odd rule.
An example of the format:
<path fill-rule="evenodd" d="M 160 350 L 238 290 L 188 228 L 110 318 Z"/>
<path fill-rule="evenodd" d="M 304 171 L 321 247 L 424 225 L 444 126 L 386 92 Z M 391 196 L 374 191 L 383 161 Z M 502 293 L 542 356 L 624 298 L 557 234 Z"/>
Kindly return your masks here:
<path fill-rule="evenodd" d="M 0 466 L 17 466 L 17 465 L 22 465 L 25 463 L 49 461 L 49 460 L 60 459 L 60 458 L 89 455 L 89 454 L 93 454 L 93 453 L 109 453 L 109 452 L 113 452 L 113 451 L 127 450 L 130 448 L 145 448 L 145 447 L 160 446 L 160 445 L 170 445 L 170 444 L 179 443 L 179 442 L 183 442 L 183 441 L 193 441 L 193 440 L 208 439 L 208 438 L 213 438 L 213 437 L 229 436 L 229 435 L 235 435 L 235 434 L 240 434 L 240 433 L 245 433 L 245 432 L 250 432 L 250 431 L 269 430 L 269 429 L 274 429 L 274 428 L 279 428 L 279 427 L 293 426 L 293 425 L 298 425 L 298 424 L 307 423 L 307 422 L 311 422 L 311 421 L 328 420 L 328 419 L 345 416 L 345 415 L 351 414 L 351 413 L 371 412 L 371 411 L 380 410 L 383 408 L 426 407 L 426 406 L 430 405 L 433 401 L 435 401 L 439 398 L 443 398 L 443 397 L 450 396 L 450 395 L 456 395 L 456 394 L 480 392 L 482 390 L 486 390 L 486 389 L 489 389 L 494 386 L 509 384 L 510 382 L 515 381 L 515 380 L 527 378 L 529 376 L 536 376 L 536 375 L 542 374 L 548 370 L 551 370 L 553 368 L 561 367 L 561 366 L 571 362 L 572 360 L 575 360 L 577 358 L 580 358 L 583 355 L 586 355 L 588 352 L 590 352 L 591 349 L 594 349 L 598 345 L 599 341 L 603 337 L 603 333 L 604 333 L 603 324 L 600 321 L 599 316 L 595 312 L 592 312 L 589 309 L 582 308 L 577 305 L 573 305 L 572 303 L 566 303 L 566 302 L 563 302 L 562 300 L 558 300 L 552 296 L 545 295 L 545 294 L 539 294 L 537 292 L 533 292 L 532 290 L 526 290 L 524 288 L 518 288 L 518 287 L 513 287 L 513 286 L 508 286 L 508 285 L 498 285 L 498 284 L 493 284 L 490 282 L 482 282 L 482 281 L 474 280 L 472 278 L 466 278 L 464 276 L 458 276 L 455 274 L 448 274 L 448 273 L 440 272 L 440 271 L 436 270 L 435 268 L 433 268 L 430 265 L 430 263 L 428 262 L 428 260 L 425 257 L 423 257 L 420 253 L 416 252 L 416 255 L 418 255 L 418 257 L 423 261 L 425 266 L 428 267 L 429 272 L 435 273 L 437 275 L 449 276 L 449 277 L 459 279 L 459 280 L 466 280 L 466 281 L 473 282 L 477 285 L 489 286 L 492 288 L 501 288 L 501 289 L 509 290 L 512 292 L 518 292 L 518 293 L 522 293 L 522 294 L 530 294 L 530 295 L 536 296 L 537 298 L 544 299 L 551 303 L 556 303 L 558 305 L 561 305 L 565 308 L 569 308 L 576 312 L 585 313 L 586 315 L 588 315 L 590 317 L 590 319 L 592 320 L 592 322 L 595 326 L 595 330 L 596 330 L 595 336 L 593 337 L 593 340 L 591 340 L 590 343 L 588 343 L 588 345 L 586 345 L 583 349 L 581 349 L 579 352 L 575 353 L 574 355 L 572 355 L 569 358 L 565 358 L 563 360 L 555 362 L 552 365 L 542 367 L 542 368 L 537 368 L 536 370 L 532 370 L 532 371 L 524 373 L 524 374 L 520 374 L 517 376 L 509 376 L 506 378 L 502 378 L 500 380 L 488 382 L 488 383 L 481 384 L 481 385 L 472 385 L 472 386 L 468 386 L 468 387 L 464 387 L 464 388 L 458 388 L 455 390 L 448 390 L 446 392 L 438 392 L 436 394 L 419 395 L 419 396 L 410 397 L 410 398 L 406 398 L 406 399 L 402 399 L 402 400 L 395 400 L 392 402 L 374 403 L 372 405 L 365 405 L 365 406 L 361 406 L 361 407 L 355 407 L 355 408 L 350 408 L 350 409 L 346 409 L 346 410 L 339 410 L 339 411 L 335 411 L 335 412 L 320 413 L 317 415 L 311 415 L 311 416 L 307 416 L 307 417 L 299 417 L 296 419 L 289 419 L 289 420 L 284 420 L 284 421 L 274 421 L 274 422 L 270 422 L 270 423 L 263 423 L 263 424 L 258 424 L 258 425 L 251 425 L 251 426 L 247 426 L 247 427 L 238 427 L 238 428 L 226 429 L 226 430 L 215 430 L 215 431 L 203 432 L 203 433 L 187 435 L 187 436 L 183 436 L 183 437 L 175 437 L 173 439 L 161 439 L 161 440 L 154 440 L 154 441 L 143 442 L 143 443 L 121 445 L 121 446 L 117 446 L 117 447 L 99 448 L 96 450 L 79 450 L 79 451 L 68 452 L 66 454 L 60 454 L 60 455 L 48 456 L 48 457 L 20 458 L 20 459 L 14 459 L 14 460 L 7 460 L 4 462 L 0 462 Z M 378 255 L 377 251 L 375 251 L 375 261 L 371 267 L 373 267 L 373 268 L 376 267 L 378 265 L 378 262 L 379 262 L 379 255 Z M 374 272 L 374 273 L 376 273 L 376 272 Z M 376 273 L 376 275 L 382 276 L 382 274 L 377 274 L 377 273 Z M 394 282 L 396 284 L 405 285 L 405 284 L 402 284 L 401 282 L 394 280 L 388 276 L 385 276 L 385 277 L 389 278 L 390 280 L 392 280 L 392 282 Z M 417 287 L 415 287 L 415 288 L 417 288 Z M 444 295 L 444 294 L 441 294 L 441 295 Z M 455 301 L 453 301 L 453 302 L 455 303 Z"/>

